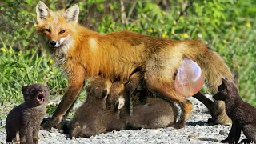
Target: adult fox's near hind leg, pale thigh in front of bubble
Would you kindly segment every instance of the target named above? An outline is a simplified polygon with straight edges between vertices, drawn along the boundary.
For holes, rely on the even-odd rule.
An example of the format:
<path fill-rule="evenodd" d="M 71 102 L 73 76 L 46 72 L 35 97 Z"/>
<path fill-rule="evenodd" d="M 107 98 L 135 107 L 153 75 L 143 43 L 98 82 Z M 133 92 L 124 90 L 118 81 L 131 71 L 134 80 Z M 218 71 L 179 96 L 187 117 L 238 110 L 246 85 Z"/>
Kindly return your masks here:
<path fill-rule="evenodd" d="M 183 54 L 179 47 L 166 47 L 146 61 L 144 79 L 151 93 L 176 102 L 182 109 L 177 128 L 183 127 L 192 111 L 192 103 L 174 90 L 174 75 L 181 66 Z"/>

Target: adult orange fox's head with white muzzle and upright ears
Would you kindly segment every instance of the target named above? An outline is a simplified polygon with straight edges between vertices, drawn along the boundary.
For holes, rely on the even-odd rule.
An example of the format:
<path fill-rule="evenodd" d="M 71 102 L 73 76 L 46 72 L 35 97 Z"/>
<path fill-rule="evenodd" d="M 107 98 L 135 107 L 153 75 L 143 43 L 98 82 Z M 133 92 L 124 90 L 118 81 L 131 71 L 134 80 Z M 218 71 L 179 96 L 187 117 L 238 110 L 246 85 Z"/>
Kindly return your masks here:
<path fill-rule="evenodd" d="M 41 1 L 36 6 L 37 31 L 42 36 L 42 41 L 50 51 L 57 49 L 67 49 L 72 45 L 73 39 L 70 37 L 74 33 L 74 25 L 78 22 L 78 4 L 71 6 L 67 10 L 51 11 Z"/>

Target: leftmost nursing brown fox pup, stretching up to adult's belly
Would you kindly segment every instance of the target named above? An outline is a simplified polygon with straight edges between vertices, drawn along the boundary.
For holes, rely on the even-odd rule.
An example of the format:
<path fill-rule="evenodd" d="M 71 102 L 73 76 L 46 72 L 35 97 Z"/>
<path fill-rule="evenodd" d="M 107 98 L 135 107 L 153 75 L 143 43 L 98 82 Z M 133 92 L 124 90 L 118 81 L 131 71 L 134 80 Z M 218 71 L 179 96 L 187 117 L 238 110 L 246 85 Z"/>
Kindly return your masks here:
<path fill-rule="evenodd" d="M 86 87 L 86 102 L 78 108 L 74 118 L 63 126 L 64 132 L 70 134 L 71 138 L 88 138 L 106 131 L 125 128 L 118 111 L 106 107 L 106 97 L 111 83 L 100 77 L 93 78 L 92 83 L 93 85 Z"/>

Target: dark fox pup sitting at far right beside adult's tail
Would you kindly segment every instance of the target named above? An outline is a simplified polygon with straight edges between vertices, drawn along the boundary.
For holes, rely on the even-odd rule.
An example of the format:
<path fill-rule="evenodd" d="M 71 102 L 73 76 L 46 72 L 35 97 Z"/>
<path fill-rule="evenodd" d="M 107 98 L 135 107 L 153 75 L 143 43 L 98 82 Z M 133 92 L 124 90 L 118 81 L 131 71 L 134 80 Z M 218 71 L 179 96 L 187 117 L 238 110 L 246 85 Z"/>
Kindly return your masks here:
<path fill-rule="evenodd" d="M 242 143 L 256 142 L 256 108 L 244 102 L 233 82 L 222 78 L 222 85 L 218 86 L 218 93 L 214 99 L 226 103 L 226 114 L 232 119 L 232 127 L 223 143 L 238 143 L 241 130 L 247 139 Z"/>

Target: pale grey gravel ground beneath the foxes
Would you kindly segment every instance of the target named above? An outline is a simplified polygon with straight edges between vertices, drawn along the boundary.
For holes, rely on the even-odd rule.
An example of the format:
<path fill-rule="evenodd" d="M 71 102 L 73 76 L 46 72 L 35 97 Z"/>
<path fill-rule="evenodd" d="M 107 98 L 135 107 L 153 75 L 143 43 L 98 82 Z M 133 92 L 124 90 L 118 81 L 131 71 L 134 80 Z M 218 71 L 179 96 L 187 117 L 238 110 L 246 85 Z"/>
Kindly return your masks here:
<path fill-rule="evenodd" d="M 195 98 L 189 98 L 194 109 L 185 128 L 121 130 L 99 134 L 91 138 L 68 138 L 58 130 L 40 130 L 39 144 L 45 143 L 218 143 L 226 138 L 231 126 L 210 126 L 206 123 L 210 118 L 205 106 Z M 4 122 L 2 122 L 4 123 Z M 242 138 L 245 136 L 242 134 Z M 240 138 L 240 139 L 242 139 Z M 0 130 L 0 143 L 6 141 L 6 130 Z"/>

